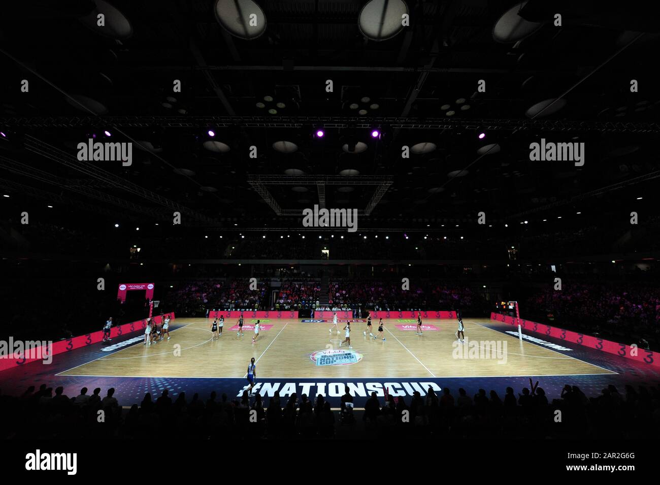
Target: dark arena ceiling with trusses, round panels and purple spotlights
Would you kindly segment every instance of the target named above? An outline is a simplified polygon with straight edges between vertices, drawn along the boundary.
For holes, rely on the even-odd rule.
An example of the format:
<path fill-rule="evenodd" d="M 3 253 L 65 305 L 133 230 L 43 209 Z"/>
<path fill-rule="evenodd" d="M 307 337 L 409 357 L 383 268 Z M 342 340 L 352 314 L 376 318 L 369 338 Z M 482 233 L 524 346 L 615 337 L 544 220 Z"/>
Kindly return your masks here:
<path fill-rule="evenodd" d="M 12 2 L 0 210 L 93 230 L 176 210 L 183 226 L 298 229 L 319 202 L 371 204 L 363 229 L 657 212 L 657 23 L 641 1 L 576 4 Z M 132 142 L 133 164 L 79 162 L 92 135 Z M 530 160 L 541 139 L 584 143 L 585 163 Z"/>

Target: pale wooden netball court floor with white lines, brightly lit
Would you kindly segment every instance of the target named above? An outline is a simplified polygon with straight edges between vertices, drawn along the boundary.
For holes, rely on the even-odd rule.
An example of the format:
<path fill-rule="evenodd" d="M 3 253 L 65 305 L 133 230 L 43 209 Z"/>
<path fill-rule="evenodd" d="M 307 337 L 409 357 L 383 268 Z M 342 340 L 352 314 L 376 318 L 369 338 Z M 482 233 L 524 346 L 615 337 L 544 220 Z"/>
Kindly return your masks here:
<path fill-rule="evenodd" d="M 488 319 L 464 319 L 467 349 L 466 344 L 456 342 L 455 320 L 425 320 L 424 325 L 436 327 L 436 330 L 427 330 L 418 336 L 413 322 L 390 319 L 385 321 L 384 342 L 369 338 L 368 334 L 367 337 L 362 335 L 366 323 L 352 323 L 351 350 L 359 360 L 354 364 L 335 366 L 317 366 L 310 358 L 314 352 L 339 348 L 339 340 L 344 340 L 343 331 L 340 335 L 334 331 L 329 333 L 331 323 L 262 320 L 262 325 L 272 327 L 261 331 L 255 343 L 251 342 L 251 329 L 244 331 L 243 337 L 238 337 L 236 331 L 230 331 L 235 323 L 227 321 L 222 337 L 211 340 L 209 320 L 178 318 L 176 325 L 183 326 L 171 332 L 171 340 L 162 340 L 150 346 L 133 344 L 58 375 L 244 377 L 252 357 L 257 361 L 257 377 L 261 378 L 359 379 L 614 373 L 560 354 L 551 348 L 525 340 L 521 342 L 517 337 L 480 325 L 492 323 Z M 253 320 L 246 319 L 246 325 L 253 325 Z M 340 330 L 344 325 L 339 325 Z M 376 322 L 374 325 L 375 331 Z M 395 325 L 409 325 L 412 329 L 403 330 Z M 346 347 L 343 345 L 341 348 Z"/>

